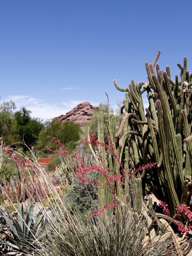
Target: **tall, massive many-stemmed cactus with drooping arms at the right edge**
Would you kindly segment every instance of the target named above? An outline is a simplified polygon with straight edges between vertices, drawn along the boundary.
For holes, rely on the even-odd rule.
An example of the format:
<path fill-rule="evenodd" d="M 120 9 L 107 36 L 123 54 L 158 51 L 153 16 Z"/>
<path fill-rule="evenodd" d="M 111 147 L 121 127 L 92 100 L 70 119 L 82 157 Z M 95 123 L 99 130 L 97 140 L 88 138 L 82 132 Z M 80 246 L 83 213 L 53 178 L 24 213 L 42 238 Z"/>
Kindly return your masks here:
<path fill-rule="evenodd" d="M 135 83 L 126 92 L 126 115 L 116 138 L 121 147 L 121 159 L 127 156 L 135 167 L 156 162 L 152 171 L 142 171 L 146 190 L 165 201 L 174 215 L 180 203 L 189 203 L 192 188 L 192 73 L 187 71 L 187 58 L 180 68 L 180 81 L 170 76 L 170 68 L 160 70 L 156 64 L 160 51 L 152 64 L 146 62 L 148 81 Z M 156 71 L 155 71 L 156 66 Z M 144 111 L 143 93 L 147 93 L 149 106 Z M 184 220 L 182 220 L 184 221 Z"/>

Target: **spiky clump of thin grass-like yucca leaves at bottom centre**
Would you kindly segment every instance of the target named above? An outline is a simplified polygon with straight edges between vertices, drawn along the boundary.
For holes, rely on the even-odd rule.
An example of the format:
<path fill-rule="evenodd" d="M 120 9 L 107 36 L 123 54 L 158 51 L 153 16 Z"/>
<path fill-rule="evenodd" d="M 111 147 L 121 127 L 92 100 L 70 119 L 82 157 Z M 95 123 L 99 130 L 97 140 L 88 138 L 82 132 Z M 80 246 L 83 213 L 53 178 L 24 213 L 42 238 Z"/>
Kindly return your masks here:
<path fill-rule="evenodd" d="M 59 205 L 57 214 L 52 214 L 52 224 L 43 227 L 42 249 L 36 256 L 157 256 L 176 255 L 171 232 L 156 227 L 157 236 L 150 229 L 153 221 L 145 216 L 125 212 L 119 223 L 105 214 L 103 218 L 91 213 L 71 215 L 65 206 Z M 150 234 L 151 233 L 151 234 Z"/>

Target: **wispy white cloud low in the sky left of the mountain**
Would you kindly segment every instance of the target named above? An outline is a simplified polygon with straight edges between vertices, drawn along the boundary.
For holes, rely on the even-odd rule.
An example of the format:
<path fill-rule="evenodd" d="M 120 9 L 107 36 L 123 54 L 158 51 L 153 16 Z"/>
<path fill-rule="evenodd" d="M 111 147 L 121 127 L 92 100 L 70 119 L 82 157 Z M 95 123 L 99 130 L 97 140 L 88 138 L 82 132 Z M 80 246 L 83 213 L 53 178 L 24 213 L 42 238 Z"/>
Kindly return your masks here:
<path fill-rule="evenodd" d="M 68 111 L 73 109 L 79 103 L 85 100 L 70 100 L 70 101 L 62 101 L 57 103 L 49 103 L 45 102 L 39 98 L 33 98 L 29 95 L 10 95 L 2 101 L 14 101 L 17 109 L 19 110 L 21 107 L 25 106 L 26 109 L 30 110 L 31 116 L 35 118 L 46 119 L 54 118 L 56 116 L 65 115 Z M 92 103 L 94 106 L 98 106 L 98 103 Z"/>

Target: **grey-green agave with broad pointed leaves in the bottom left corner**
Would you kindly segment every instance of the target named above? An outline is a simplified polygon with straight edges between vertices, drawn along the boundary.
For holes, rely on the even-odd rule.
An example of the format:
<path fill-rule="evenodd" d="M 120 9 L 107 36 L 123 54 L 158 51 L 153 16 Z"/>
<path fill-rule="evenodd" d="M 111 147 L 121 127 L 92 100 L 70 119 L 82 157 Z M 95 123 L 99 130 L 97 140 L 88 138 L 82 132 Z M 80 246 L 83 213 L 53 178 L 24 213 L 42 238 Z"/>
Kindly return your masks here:
<path fill-rule="evenodd" d="M 12 247 L 13 250 L 9 251 L 9 254 L 12 252 L 12 255 L 18 255 L 18 251 L 22 253 L 33 248 L 33 243 L 37 240 L 36 235 L 43 222 L 42 210 L 38 214 L 34 214 L 34 201 L 29 201 L 25 207 L 26 213 L 23 204 L 20 205 L 18 202 L 17 218 L 14 218 L 8 209 L 6 209 L 8 216 L 0 209 L 2 218 L 8 224 L 12 234 L 12 236 L 7 234 L 8 241 L 0 241 L 0 243 Z"/>

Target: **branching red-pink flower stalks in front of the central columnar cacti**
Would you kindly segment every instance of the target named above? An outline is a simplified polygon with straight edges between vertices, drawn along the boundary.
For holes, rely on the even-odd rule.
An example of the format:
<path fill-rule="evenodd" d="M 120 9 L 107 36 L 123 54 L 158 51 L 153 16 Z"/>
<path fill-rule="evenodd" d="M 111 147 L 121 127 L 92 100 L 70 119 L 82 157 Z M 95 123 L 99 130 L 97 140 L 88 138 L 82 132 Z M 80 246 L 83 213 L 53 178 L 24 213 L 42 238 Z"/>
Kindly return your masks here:
<path fill-rule="evenodd" d="M 77 152 L 73 152 L 76 161 L 73 160 L 70 156 L 67 155 L 66 148 L 61 145 L 61 141 L 53 138 L 52 141 L 55 141 L 56 145 L 60 147 L 60 150 L 52 150 L 47 147 L 47 149 L 52 152 L 52 153 L 59 153 L 60 155 L 63 155 L 66 157 L 70 163 L 74 166 L 75 168 L 75 177 L 78 178 L 84 185 L 86 184 L 93 184 L 98 186 L 99 188 L 103 188 L 106 192 L 109 193 L 111 197 L 111 203 L 103 203 L 102 207 L 100 207 L 98 210 L 93 211 L 93 214 L 96 216 L 98 214 L 104 213 L 106 209 L 109 209 L 111 207 L 116 208 L 118 210 L 117 205 L 121 204 L 122 207 L 122 201 L 121 198 L 125 198 L 124 194 L 124 181 L 127 179 L 129 180 L 129 183 L 132 182 L 132 180 L 135 178 L 137 172 L 141 172 L 142 170 L 151 170 L 156 163 L 149 163 L 143 166 L 140 166 L 136 170 L 132 170 L 131 172 L 127 172 L 128 166 L 124 165 L 124 163 L 121 163 L 118 157 L 118 153 L 115 150 L 113 140 L 108 137 L 109 143 L 106 144 L 104 142 L 101 142 L 97 139 L 97 137 L 89 131 L 89 140 L 83 140 L 81 139 L 82 143 L 85 145 L 91 144 L 92 146 L 95 147 L 95 150 L 98 151 L 98 158 L 99 158 L 99 164 L 90 164 L 89 166 L 86 166 L 81 158 L 81 156 Z M 109 168 L 104 164 L 104 161 L 102 160 L 102 155 L 101 155 L 101 148 L 104 148 L 106 151 L 110 151 L 111 156 L 113 157 L 114 160 L 114 168 Z M 117 172 L 118 169 L 118 172 Z M 95 181 L 91 180 L 89 178 L 89 174 L 92 172 L 98 172 L 101 176 L 104 178 L 104 183 L 100 181 Z M 128 177 L 127 177 L 128 176 Z M 121 188 L 121 196 L 119 194 L 115 193 L 115 188 L 116 186 L 119 185 Z M 99 200 L 99 199 L 98 199 Z M 132 200 L 133 201 L 133 200 Z M 126 201 L 123 202 L 124 205 Z"/>

